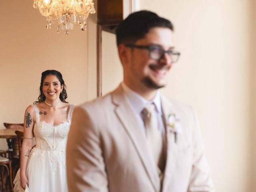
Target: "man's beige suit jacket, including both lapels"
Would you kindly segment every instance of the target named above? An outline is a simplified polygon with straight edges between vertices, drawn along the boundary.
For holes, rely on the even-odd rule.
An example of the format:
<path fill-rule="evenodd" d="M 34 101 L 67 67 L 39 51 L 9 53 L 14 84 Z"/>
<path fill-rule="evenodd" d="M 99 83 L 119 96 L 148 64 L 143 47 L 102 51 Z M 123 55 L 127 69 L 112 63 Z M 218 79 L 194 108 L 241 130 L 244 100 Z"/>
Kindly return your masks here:
<path fill-rule="evenodd" d="M 162 110 L 180 119 L 166 128 L 167 158 L 161 182 L 146 136 L 119 86 L 73 112 L 66 163 L 70 192 L 210 192 L 210 170 L 192 108 L 161 96 Z"/>

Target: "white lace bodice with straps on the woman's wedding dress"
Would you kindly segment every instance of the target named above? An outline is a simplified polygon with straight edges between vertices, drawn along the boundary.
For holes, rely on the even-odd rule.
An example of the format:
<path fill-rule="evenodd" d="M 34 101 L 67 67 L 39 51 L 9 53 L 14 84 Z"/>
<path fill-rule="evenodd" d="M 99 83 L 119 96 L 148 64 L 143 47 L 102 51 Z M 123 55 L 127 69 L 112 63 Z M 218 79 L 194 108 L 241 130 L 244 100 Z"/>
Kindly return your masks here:
<path fill-rule="evenodd" d="M 58 159 L 61 159 L 62 166 L 65 166 L 66 142 L 74 105 L 70 104 L 69 106 L 67 122 L 62 122 L 56 126 L 51 125 L 45 121 L 40 121 L 40 115 L 37 106 L 32 106 L 36 116 L 36 122 L 34 123 L 34 136 L 36 139 L 36 146 L 30 153 L 30 156 L 39 155 L 39 159 L 42 160 L 47 155 L 50 158 L 52 164 L 52 174 L 54 174 L 57 168 Z"/>

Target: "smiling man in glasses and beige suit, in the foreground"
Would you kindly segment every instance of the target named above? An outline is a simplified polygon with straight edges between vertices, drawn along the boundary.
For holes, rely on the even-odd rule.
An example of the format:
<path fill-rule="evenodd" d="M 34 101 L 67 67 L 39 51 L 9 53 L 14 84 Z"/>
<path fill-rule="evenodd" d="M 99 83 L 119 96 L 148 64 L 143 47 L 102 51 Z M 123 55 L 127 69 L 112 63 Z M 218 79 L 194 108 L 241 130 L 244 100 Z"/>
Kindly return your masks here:
<path fill-rule="evenodd" d="M 194 111 L 159 92 L 180 56 L 172 23 L 135 12 L 120 23 L 116 40 L 124 81 L 75 109 L 66 154 L 69 191 L 212 191 Z"/>

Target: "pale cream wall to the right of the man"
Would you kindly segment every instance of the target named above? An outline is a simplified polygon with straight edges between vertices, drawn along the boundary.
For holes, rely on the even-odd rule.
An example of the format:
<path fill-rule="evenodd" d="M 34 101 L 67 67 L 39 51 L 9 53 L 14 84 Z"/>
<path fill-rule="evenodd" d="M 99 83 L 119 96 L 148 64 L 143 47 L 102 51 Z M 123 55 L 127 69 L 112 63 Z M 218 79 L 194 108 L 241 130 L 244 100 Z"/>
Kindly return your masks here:
<path fill-rule="evenodd" d="M 255 21 L 250 3 L 140 0 L 140 9 L 174 23 L 176 49 L 182 54 L 162 92 L 198 113 L 217 192 L 253 191 L 249 53 Z"/>

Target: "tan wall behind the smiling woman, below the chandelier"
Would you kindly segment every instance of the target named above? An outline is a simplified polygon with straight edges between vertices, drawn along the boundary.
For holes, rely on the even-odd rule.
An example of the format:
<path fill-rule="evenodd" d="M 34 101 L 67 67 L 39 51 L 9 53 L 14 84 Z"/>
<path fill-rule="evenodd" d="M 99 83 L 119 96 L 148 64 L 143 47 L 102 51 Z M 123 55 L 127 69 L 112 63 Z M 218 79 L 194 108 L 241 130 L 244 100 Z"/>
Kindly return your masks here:
<path fill-rule="evenodd" d="M 0 128 L 3 122 L 23 122 L 26 107 L 39 95 L 44 70 L 62 73 L 68 102 L 80 104 L 96 96 L 96 88 L 91 88 L 96 83 L 87 80 L 93 74 L 88 72 L 89 67 L 93 70 L 87 65 L 88 54 L 91 60 L 96 54 L 96 49 L 87 52 L 88 33 L 76 27 L 67 37 L 57 34 L 56 25 L 46 30 L 46 19 L 32 5 L 33 1 L 0 2 Z M 0 148 L 6 147 L 0 139 Z"/>

